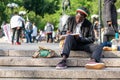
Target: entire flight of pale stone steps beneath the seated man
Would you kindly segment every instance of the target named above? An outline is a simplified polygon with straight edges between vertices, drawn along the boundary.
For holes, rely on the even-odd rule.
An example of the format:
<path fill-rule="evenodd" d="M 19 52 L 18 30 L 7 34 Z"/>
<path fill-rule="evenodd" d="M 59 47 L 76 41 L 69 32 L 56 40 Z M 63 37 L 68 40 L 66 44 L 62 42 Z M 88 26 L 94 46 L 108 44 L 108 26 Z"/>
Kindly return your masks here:
<path fill-rule="evenodd" d="M 71 51 L 64 70 L 55 69 L 62 59 L 59 54 L 54 58 L 32 58 L 34 51 L 1 49 L 0 80 L 120 80 L 119 51 L 103 52 L 106 68 L 102 70 L 85 69 L 90 55 L 82 51 Z"/>

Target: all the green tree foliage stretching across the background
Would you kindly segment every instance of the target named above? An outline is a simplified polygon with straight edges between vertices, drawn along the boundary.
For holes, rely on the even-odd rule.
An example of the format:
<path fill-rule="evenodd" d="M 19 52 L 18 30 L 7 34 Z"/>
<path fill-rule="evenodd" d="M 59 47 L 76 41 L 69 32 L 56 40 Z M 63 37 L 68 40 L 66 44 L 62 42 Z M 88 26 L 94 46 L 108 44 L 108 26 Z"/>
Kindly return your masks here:
<path fill-rule="evenodd" d="M 65 11 L 65 13 L 75 15 L 76 9 L 84 6 L 89 10 L 88 19 L 90 19 L 91 15 L 99 13 L 98 1 L 99 0 L 71 0 L 71 9 Z M 57 29 L 60 14 L 62 14 L 62 0 L 0 0 L 0 24 L 3 21 L 10 21 L 12 11 L 7 7 L 7 4 L 11 2 L 19 5 L 18 8 L 14 8 L 14 11 L 26 11 L 27 14 L 23 16 L 25 20 L 28 16 L 32 22 L 36 23 L 39 29 L 43 30 L 47 22 L 51 22 L 55 26 L 55 29 Z M 120 8 L 119 3 L 120 0 L 117 0 L 117 9 Z"/>

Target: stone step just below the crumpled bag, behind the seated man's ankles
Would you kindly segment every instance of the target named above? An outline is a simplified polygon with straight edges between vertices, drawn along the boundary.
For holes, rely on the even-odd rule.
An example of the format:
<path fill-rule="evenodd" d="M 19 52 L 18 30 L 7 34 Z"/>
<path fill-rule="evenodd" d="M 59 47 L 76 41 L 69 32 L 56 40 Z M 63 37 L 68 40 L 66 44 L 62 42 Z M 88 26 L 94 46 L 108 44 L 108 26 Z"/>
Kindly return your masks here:
<path fill-rule="evenodd" d="M 0 57 L 0 66 L 28 66 L 43 67 L 56 66 L 62 58 L 31 58 L 31 57 Z M 120 67 L 120 58 L 102 58 L 106 67 Z M 89 62 L 89 58 L 68 58 L 68 66 L 84 67 Z"/>

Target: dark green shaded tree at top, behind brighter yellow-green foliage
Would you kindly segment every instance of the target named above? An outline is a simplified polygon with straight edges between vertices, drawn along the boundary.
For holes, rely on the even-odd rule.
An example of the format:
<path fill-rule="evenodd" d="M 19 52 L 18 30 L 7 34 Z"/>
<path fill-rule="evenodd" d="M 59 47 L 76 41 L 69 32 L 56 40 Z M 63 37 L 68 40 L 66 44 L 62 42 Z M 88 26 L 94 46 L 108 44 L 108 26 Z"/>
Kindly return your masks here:
<path fill-rule="evenodd" d="M 24 7 L 34 11 L 36 15 L 44 16 L 45 13 L 53 14 L 59 9 L 59 0 L 24 0 Z"/>

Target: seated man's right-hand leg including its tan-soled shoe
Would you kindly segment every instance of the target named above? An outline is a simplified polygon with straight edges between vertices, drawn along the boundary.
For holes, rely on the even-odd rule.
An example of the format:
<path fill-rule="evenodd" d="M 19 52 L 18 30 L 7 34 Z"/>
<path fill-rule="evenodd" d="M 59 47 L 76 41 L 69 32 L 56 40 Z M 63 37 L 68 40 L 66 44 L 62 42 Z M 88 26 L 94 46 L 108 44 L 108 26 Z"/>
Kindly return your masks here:
<path fill-rule="evenodd" d="M 97 44 L 89 44 L 86 45 L 84 48 L 86 48 L 85 51 L 92 53 L 90 62 L 85 65 L 86 68 L 102 69 L 105 67 L 104 63 L 100 63 L 103 46 Z"/>

